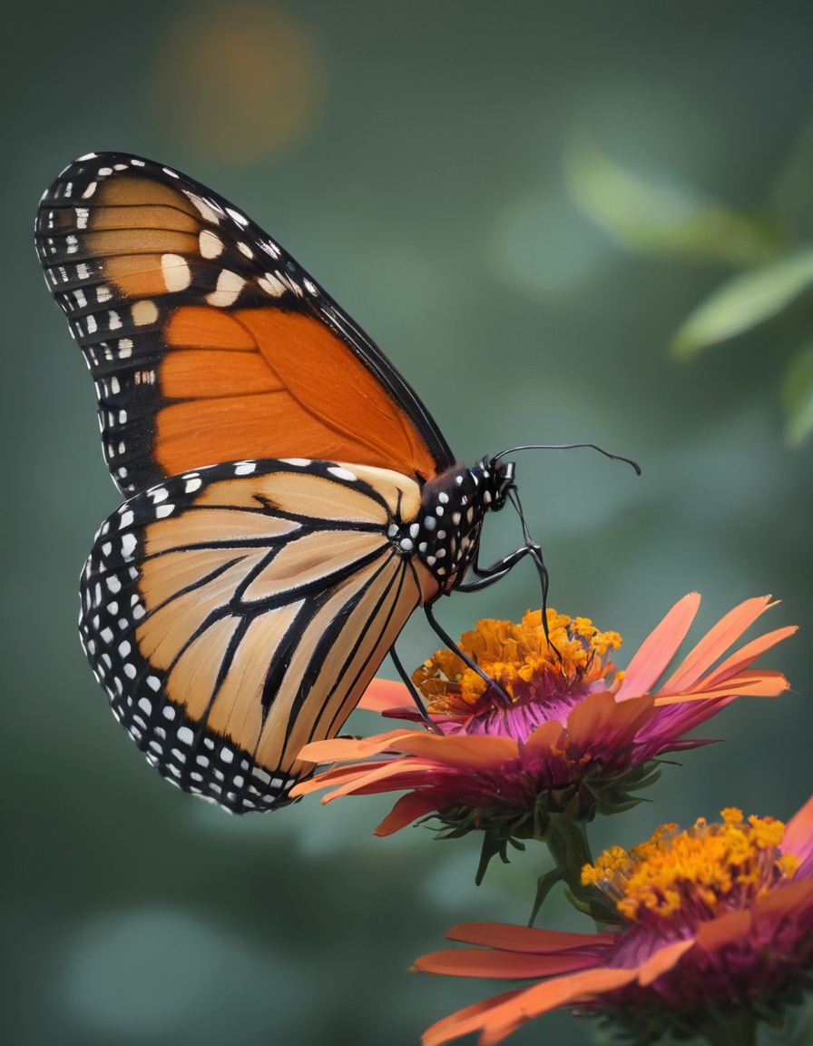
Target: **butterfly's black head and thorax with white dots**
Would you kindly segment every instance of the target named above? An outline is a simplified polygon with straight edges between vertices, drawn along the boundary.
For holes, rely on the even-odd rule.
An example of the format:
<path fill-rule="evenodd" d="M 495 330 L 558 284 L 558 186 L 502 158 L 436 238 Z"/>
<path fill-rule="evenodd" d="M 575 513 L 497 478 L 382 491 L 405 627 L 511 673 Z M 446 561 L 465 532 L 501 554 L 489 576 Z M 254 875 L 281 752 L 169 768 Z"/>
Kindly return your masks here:
<path fill-rule="evenodd" d="M 483 519 L 503 507 L 513 476 L 513 464 L 484 458 L 424 485 L 420 514 L 410 528 L 411 548 L 404 550 L 417 551 L 441 592 L 450 592 L 471 566 Z"/>

